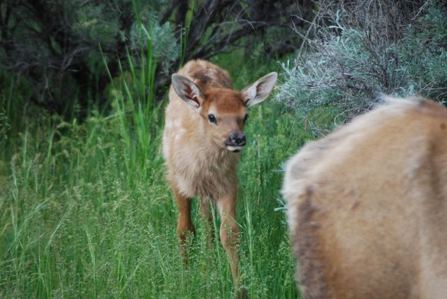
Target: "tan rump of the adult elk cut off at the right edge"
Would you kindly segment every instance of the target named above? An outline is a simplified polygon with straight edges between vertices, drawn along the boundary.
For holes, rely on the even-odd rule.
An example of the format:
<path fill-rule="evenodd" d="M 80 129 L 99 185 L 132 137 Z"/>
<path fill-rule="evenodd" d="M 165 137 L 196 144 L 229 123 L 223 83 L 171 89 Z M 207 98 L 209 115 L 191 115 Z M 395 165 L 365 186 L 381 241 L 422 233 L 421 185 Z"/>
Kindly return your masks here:
<path fill-rule="evenodd" d="M 447 298 L 447 110 L 387 99 L 287 163 L 305 298 Z"/>

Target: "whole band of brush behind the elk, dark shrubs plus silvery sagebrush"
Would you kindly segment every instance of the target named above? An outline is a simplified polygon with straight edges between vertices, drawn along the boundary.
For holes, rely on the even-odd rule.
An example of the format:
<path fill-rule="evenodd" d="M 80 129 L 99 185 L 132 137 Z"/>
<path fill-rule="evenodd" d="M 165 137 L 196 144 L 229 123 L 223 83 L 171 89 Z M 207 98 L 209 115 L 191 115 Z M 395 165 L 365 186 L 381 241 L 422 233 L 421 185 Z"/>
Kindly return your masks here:
<path fill-rule="evenodd" d="M 135 73 L 152 78 L 138 89 L 156 105 L 189 59 L 295 53 L 277 99 L 350 119 L 381 94 L 446 101 L 446 20 L 435 0 L 1 0 L 0 88 L 13 79 L 27 103 L 82 119 Z"/>

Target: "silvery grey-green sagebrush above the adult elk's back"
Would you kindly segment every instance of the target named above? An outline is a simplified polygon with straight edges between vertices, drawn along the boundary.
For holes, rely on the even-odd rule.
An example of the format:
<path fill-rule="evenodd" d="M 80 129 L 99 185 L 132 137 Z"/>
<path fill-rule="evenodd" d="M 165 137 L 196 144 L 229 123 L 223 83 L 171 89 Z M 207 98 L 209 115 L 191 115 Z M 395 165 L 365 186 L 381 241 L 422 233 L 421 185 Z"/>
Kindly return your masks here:
<path fill-rule="evenodd" d="M 282 64 L 277 100 L 300 117 L 332 107 L 350 119 L 372 108 L 381 94 L 447 100 L 446 11 L 432 1 L 413 8 L 376 1 L 383 6 L 368 11 L 364 2 L 321 8 L 312 24 L 316 33 L 305 36 L 307 52 Z M 326 24 L 321 20 L 328 10 Z"/>

